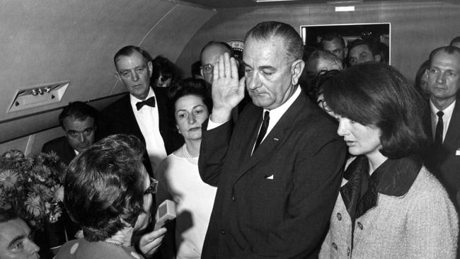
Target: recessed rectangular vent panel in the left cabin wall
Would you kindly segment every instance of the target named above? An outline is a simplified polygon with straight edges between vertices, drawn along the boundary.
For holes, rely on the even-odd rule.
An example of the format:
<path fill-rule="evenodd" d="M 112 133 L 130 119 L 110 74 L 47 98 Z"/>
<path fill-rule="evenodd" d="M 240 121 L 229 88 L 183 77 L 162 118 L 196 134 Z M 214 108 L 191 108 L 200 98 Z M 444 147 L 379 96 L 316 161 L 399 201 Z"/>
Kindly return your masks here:
<path fill-rule="evenodd" d="M 13 103 L 11 103 L 8 113 L 49 105 L 51 103 L 59 103 L 69 84 L 70 81 L 62 81 L 29 88 L 20 88 L 14 95 Z"/>

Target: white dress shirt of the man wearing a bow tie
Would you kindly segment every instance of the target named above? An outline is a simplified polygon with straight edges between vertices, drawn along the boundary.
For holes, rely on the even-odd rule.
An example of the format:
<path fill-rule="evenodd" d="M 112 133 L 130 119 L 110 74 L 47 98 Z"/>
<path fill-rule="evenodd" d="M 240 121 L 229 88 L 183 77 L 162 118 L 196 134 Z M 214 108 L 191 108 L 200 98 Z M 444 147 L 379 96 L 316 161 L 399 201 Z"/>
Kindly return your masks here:
<path fill-rule="evenodd" d="M 155 93 L 150 88 L 149 95 L 146 99 L 154 97 Z M 145 146 L 147 154 L 151 163 L 151 168 L 156 171 L 163 159 L 166 159 L 166 149 L 164 147 L 163 138 L 160 134 L 158 102 L 155 98 L 155 107 L 144 105 L 140 110 L 137 110 L 136 103 L 142 101 L 130 95 L 131 108 L 136 117 L 137 125 L 141 129 L 142 135 L 145 139 Z"/>

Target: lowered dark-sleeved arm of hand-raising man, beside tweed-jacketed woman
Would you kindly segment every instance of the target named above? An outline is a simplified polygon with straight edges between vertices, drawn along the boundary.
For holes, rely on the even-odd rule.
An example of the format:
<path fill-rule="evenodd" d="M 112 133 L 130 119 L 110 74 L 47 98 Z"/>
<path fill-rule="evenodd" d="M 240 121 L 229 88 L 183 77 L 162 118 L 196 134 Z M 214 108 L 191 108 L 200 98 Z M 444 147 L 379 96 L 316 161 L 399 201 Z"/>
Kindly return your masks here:
<path fill-rule="evenodd" d="M 321 129 L 321 130 L 320 130 Z M 319 250 L 342 180 L 345 144 L 333 125 L 320 125 L 295 154 L 286 220 L 234 258 L 308 258 Z"/>

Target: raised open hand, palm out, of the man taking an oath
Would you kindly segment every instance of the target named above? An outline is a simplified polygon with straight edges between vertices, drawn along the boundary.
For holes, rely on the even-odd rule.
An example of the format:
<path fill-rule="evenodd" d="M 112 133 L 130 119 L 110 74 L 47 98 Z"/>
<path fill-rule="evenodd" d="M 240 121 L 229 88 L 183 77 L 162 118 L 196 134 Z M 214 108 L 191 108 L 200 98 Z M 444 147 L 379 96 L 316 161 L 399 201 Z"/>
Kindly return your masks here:
<path fill-rule="evenodd" d="M 224 53 L 214 64 L 212 81 L 212 122 L 230 120 L 231 110 L 244 98 L 244 77 L 238 80 L 236 60 Z"/>

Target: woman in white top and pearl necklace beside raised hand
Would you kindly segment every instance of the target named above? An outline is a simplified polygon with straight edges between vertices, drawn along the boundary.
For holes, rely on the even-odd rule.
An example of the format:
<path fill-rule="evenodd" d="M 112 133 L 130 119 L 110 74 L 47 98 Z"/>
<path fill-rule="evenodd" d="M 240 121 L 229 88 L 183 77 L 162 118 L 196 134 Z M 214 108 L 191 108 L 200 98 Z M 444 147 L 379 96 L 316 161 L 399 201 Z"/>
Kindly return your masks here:
<path fill-rule="evenodd" d="M 200 258 L 217 190 L 201 180 L 197 166 L 201 125 L 209 116 L 212 100 L 205 81 L 184 79 L 171 86 L 170 103 L 185 144 L 159 167 L 156 204 L 168 198 L 176 202 L 177 258 Z"/>

